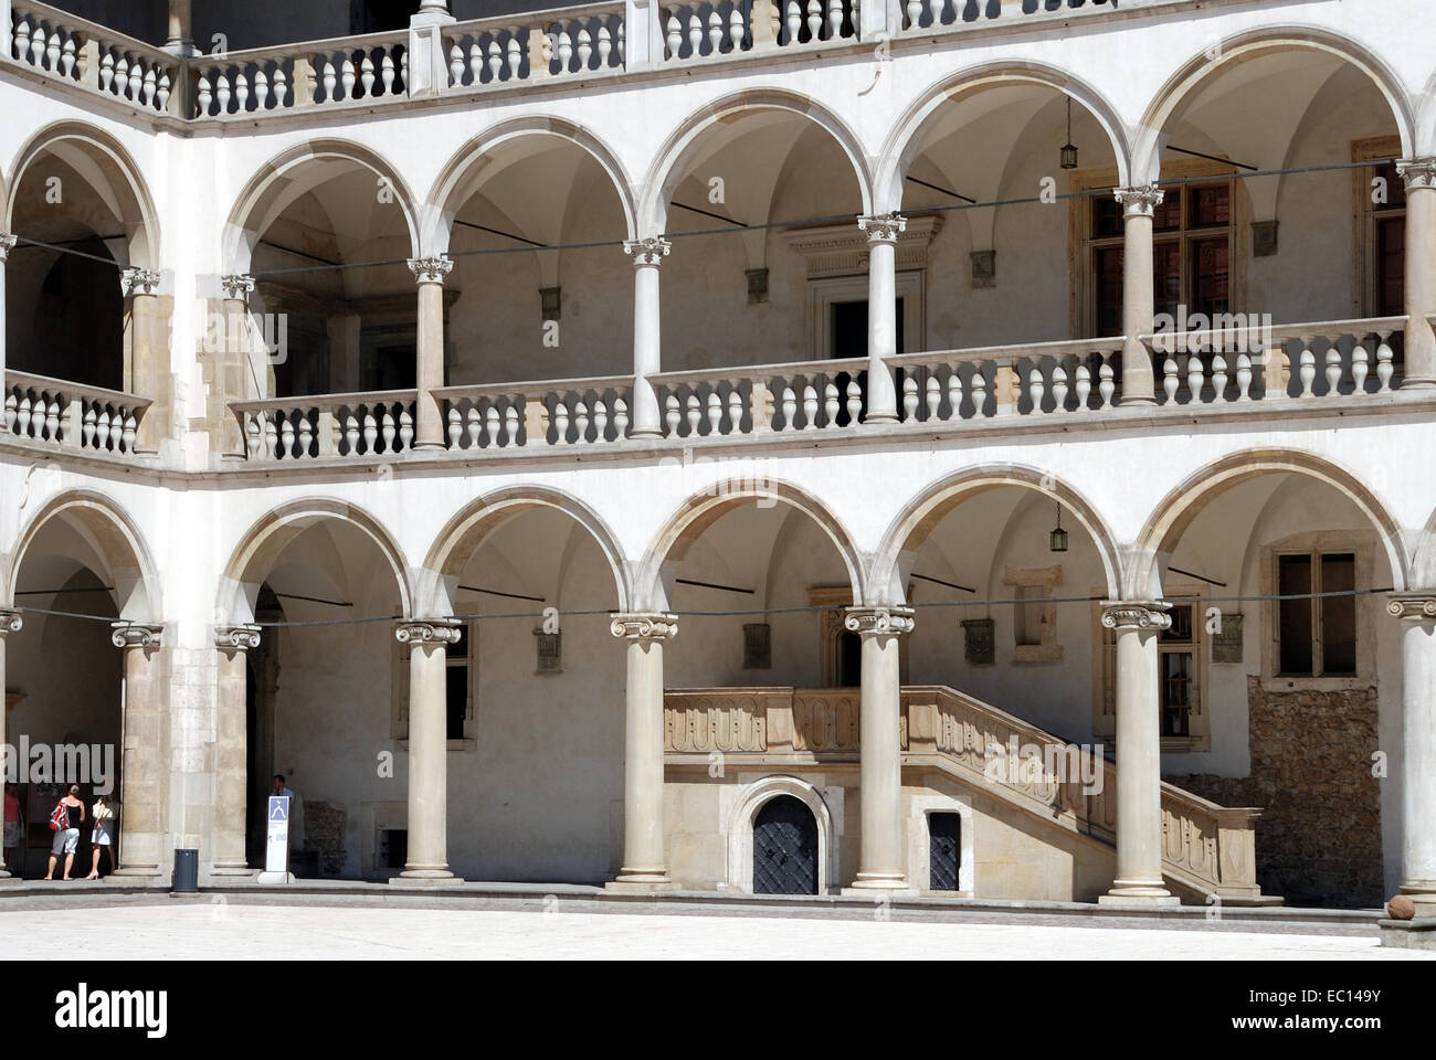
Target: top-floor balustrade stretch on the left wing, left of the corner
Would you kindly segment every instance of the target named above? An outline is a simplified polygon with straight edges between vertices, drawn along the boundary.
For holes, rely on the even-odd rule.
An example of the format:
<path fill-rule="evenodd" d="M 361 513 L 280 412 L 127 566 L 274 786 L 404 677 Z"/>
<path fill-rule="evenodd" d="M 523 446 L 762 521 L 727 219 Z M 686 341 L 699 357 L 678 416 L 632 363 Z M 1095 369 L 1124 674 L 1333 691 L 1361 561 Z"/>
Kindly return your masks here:
<path fill-rule="evenodd" d="M 184 63 L 142 40 L 26 0 L 10 6 L 9 36 L 0 52 L 22 66 L 148 111 L 178 112 Z"/>

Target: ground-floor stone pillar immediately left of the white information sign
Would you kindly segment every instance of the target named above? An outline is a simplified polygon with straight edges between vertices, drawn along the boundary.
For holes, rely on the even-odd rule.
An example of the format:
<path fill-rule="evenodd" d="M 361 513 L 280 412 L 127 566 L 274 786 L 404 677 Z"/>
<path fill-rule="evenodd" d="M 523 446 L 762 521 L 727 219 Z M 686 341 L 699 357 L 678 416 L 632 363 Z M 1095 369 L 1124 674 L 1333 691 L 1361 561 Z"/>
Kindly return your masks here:
<path fill-rule="evenodd" d="M 248 793 L 248 652 L 260 646 L 258 626 L 217 626 L 218 702 L 214 725 L 215 876 L 248 876 L 246 809 Z"/>

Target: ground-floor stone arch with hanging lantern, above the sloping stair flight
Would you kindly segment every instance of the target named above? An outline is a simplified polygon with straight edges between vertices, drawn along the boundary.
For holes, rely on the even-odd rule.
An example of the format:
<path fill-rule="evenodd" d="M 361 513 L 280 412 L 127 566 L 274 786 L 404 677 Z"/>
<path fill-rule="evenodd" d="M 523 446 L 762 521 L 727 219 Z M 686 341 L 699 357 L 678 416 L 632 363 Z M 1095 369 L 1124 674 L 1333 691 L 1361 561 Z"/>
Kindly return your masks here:
<path fill-rule="evenodd" d="M 873 592 L 886 592 L 893 600 L 902 600 L 903 583 L 906 580 L 903 556 L 915 553 L 922 547 L 928 536 L 962 501 L 978 493 L 1004 485 L 1018 485 L 1055 497 L 1064 510 L 1077 517 L 1077 521 L 1081 523 L 1097 546 L 1097 554 L 1101 557 L 1101 569 L 1107 582 L 1107 592 L 1116 595 L 1120 590 L 1123 577 L 1122 549 L 1119 549 L 1116 539 L 1107 529 L 1107 523 L 1096 506 L 1071 485 L 1043 473 L 1040 468 L 1024 467 L 1021 464 L 994 464 L 939 478 L 903 506 L 883 533 L 883 543 L 873 559 L 873 566 L 869 572 Z"/>

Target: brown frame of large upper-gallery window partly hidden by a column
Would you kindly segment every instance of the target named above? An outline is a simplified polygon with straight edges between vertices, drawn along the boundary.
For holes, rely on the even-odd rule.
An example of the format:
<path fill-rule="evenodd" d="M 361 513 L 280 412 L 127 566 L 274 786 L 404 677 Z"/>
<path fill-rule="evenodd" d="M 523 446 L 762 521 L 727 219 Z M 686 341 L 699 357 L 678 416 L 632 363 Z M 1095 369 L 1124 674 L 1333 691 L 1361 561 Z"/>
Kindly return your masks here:
<path fill-rule="evenodd" d="M 1162 180 L 1192 180 L 1203 184 L 1218 184 L 1225 180 L 1231 185 L 1231 211 L 1228 214 L 1228 312 L 1238 313 L 1246 304 L 1246 259 L 1251 253 L 1251 204 L 1242 182 L 1234 175 L 1235 165 L 1212 162 L 1202 158 L 1182 159 L 1162 165 Z M 1091 200 L 1093 195 L 1081 192 L 1107 190 L 1109 194 L 1117 187 L 1116 168 L 1107 169 L 1077 169 L 1067 178 L 1067 190 L 1077 198 L 1068 198 L 1067 217 L 1067 271 L 1071 277 L 1070 327 L 1074 338 L 1111 338 L 1097 335 L 1097 306 L 1096 306 L 1096 266 L 1097 250 L 1120 247 L 1124 234 L 1096 237 L 1091 233 Z M 1167 185 L 1183 192 L 1182 227 L 1176 234 L 1155 234 L 1155 243 L 1180 240 L 1180 270 L 1183 300 L 1192 304 L 1189 284 L 1190 253 L 1193 240 L 1206 238 L 1222 231 L 1221 227 L 1189 228 L 1186 192 L 1200 184 Z"/>

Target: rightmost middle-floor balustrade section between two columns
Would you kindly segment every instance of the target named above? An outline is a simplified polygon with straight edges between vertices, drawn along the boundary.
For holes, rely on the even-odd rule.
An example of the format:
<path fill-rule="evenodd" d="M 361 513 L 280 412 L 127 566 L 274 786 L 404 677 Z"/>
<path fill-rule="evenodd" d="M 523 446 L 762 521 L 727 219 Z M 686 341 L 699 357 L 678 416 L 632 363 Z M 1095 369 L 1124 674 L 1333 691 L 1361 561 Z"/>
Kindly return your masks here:
<path fill-rule="evenodd" d="M 1361 398 L 1400 383 L 1393 336 L 1404 316 L 1143 336 L 1157 402 L 1221 405 L 1288 398 Z"/>

